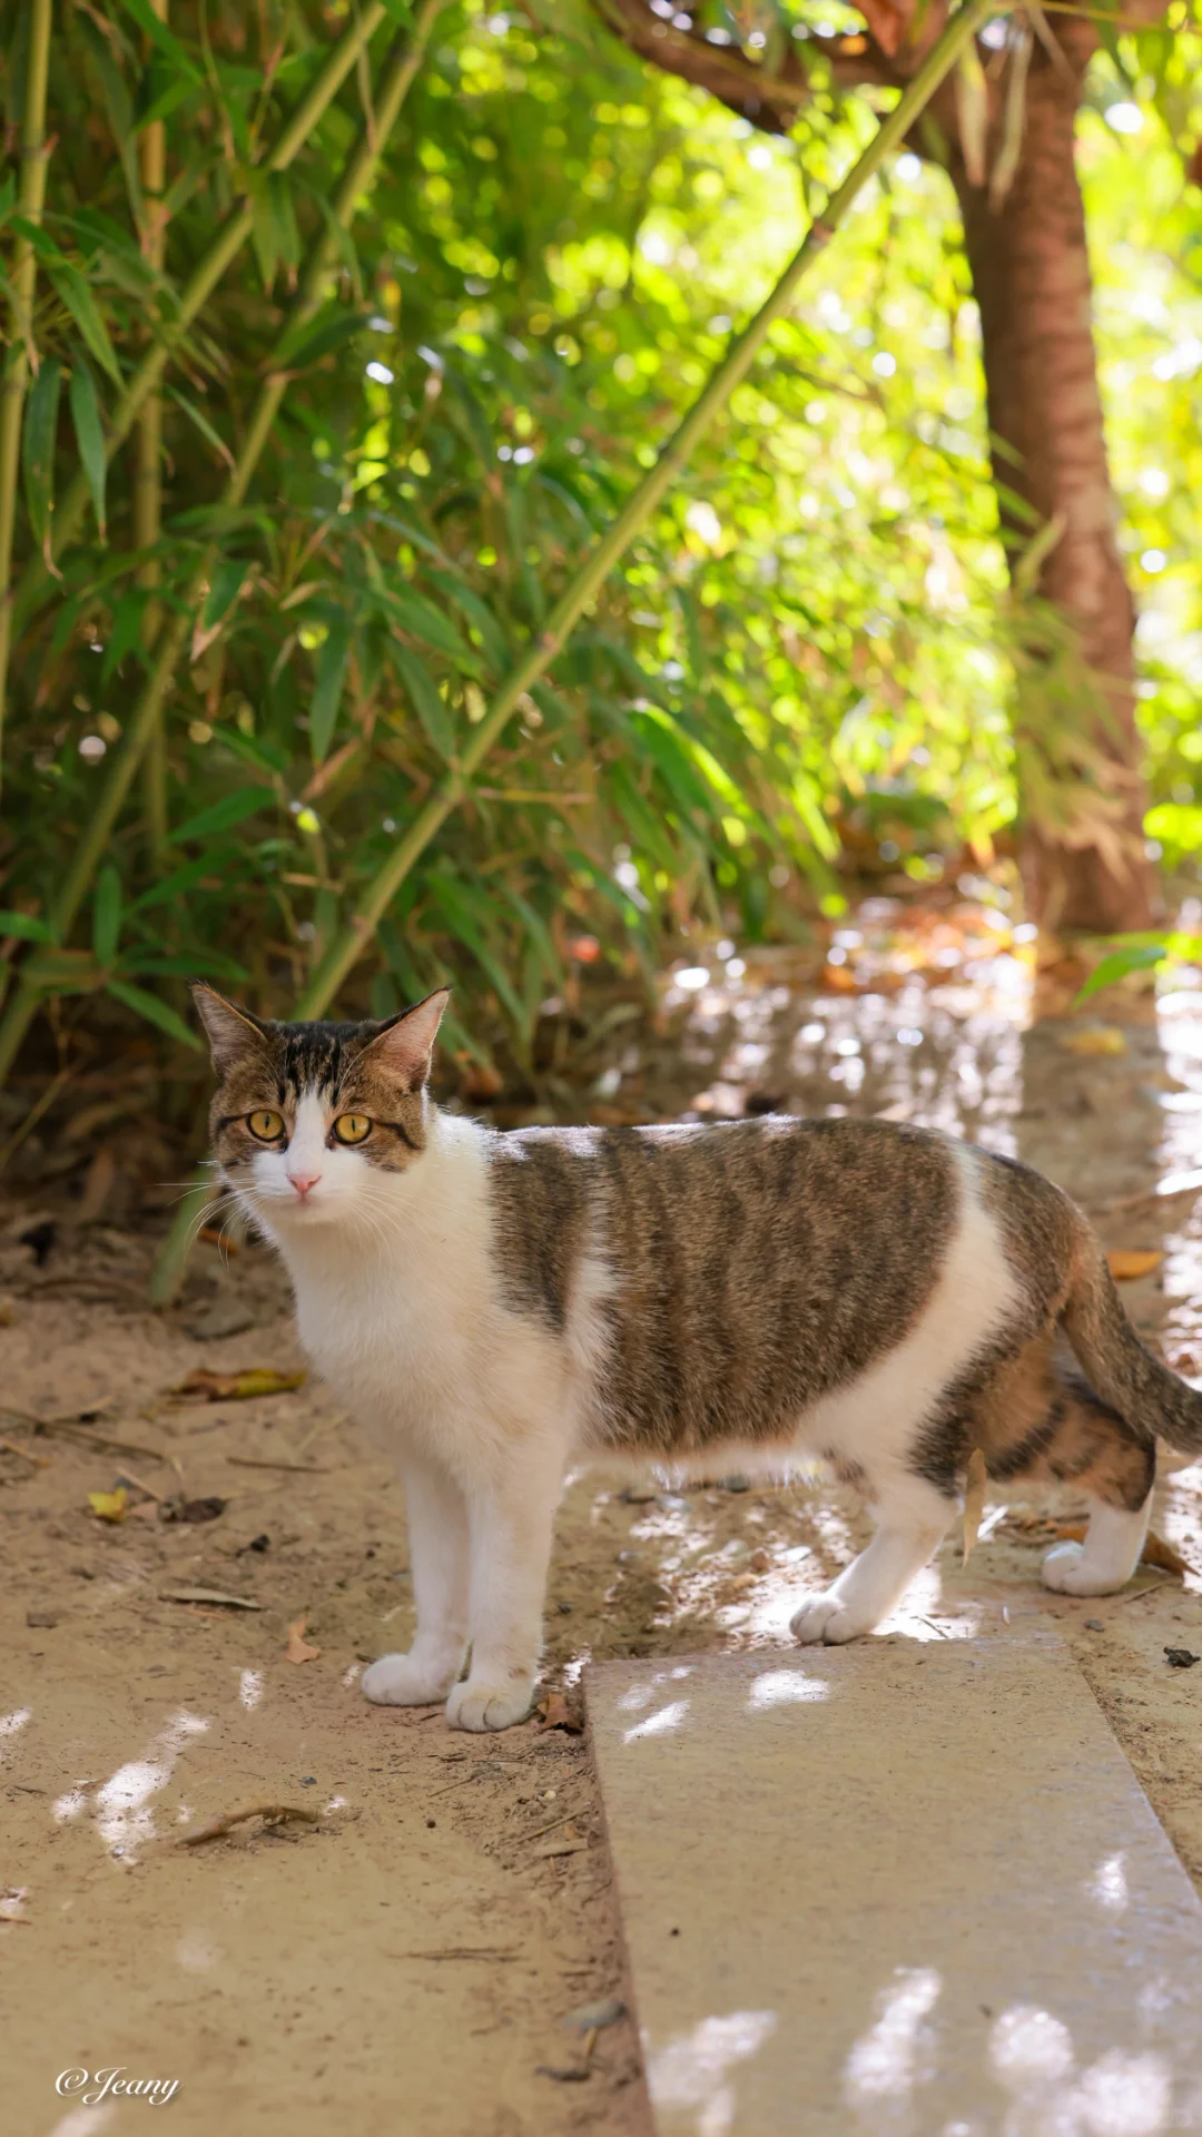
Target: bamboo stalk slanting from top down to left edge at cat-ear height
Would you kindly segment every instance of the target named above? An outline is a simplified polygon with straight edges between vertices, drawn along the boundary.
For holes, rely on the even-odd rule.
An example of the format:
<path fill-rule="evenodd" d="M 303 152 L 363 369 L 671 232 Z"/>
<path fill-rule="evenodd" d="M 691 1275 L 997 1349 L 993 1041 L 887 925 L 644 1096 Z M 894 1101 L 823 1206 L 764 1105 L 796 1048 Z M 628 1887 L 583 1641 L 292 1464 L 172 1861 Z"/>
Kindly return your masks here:
<path fill-rule="evenodd" d="M 389 132 L 400 115 L 400 107 L 404 103 L 409 85 L 421 64 L 426 45 L 430 43 L 430 32 L 434 28 L 434 21 L 445 4 L 447 0 L 423 0 L 413 19 L 411 43 L 406 45 L 404 51 L 396 51 L 389 62 L 374 111 L 372 137 L 368 139 L 368 128 L 364 128 L 359 141 L 355 143 L 355 152 L 351 156 L 351 162 L 346 165 L 342 184 L 336 194 L 334 222 L 340 229 L 349 229 L 361 197 L 372 186 Z M 289 308 L 289 316 L 284 321 L 284 329 L 280 333 L 276 350 L 282 350 L 287 342 L 295 336 L 297 327 L 304 327 L 304 323 L 312 318 L 314 312 L 319 310 L 325 291 L 325 280 L 329 276 L 336 256 L 338 256 L 338 241 L 334 233 L 325 229 L 310 254 L 302 286 Z M 274 363 L 269 361 L 267 378 L 259 391 L 250 421 L 246 425 L 246 438 L 242 442 L 235 468 L 225 485 L 220 500 L 225 506 L 237 506 L 246 496 L 248 483 L 261 459 L 263 447 L 267 444 L 272 423 L 280 408 L 280 400 L 284 397 L 287 378 L 289 374 L 284 372 L 276 355 Z M 143 759 L 148 739 L 154 733 L 154 727 L 163 714 L 163 703 L 175 680 L 175 669 L 184 654 L 184 645 L 188 641 L 192 626 L 192 615 L 197 603 L 203 598 L 203 586 L 212 573 L 214 558 L 216 549 L 207 547 L 186 590 L 180 596 L 180 605 L 171 622 L 167 624 L 167 628 L 158 639 L 154 665 L 126 720 L 126 731 L 122 735 L 120 748 L 113 754 L 109 774 L 105 778 L 105 786 L 101 789 L 96 808 L 92 810 L 92 816 L 79 838 L 79 844 L 75 846 L 71 868 L 53 904 L 53 930 L 58 940 L 66 938 L 79 912 L 79 906 L 83 904 L 83 898 L 92 887 L 92 878 L 105 855 L 113 825 L 128 795 L 137 767 Z M 28 981 L 21 979 L 17 992 L 13 994 L 13 1000 L 4 1011 L 4 1017 L 0 1019 L 0 1083 L 9 1075 L 9 1068 L 13 1066 L 17 1047 L 21 1045 L 21 1039 L 26 1036 L 41 1000 L 43 1000 L 41 989 L 32 987 Z"/>

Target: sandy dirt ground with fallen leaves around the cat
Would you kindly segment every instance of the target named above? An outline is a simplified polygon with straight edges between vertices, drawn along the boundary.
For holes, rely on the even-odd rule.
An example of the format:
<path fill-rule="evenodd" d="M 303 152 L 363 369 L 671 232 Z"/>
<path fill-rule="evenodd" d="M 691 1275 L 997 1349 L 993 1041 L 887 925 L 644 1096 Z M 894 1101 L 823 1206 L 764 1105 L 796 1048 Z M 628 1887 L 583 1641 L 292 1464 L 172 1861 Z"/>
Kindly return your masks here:
<path fill-rule="evenodd" d="M 828 953 L 699 955 L 657 1019 L 612 1021 L 577 1111 L 888 1113 L 1014 1152 L 1110 1248 L 1161 1257 L 1127 1306 L 1202 1374 L 1202 992 L 1031 1024 L 1029 949 L 973 902 L 877 902 Z M 1054 974 L 1042 998 L 1063 1011 Z M 299 1368 L 280 1272 L 250 1242 L 201 1244 L 150 1314 L 167 1192 L 130 1173 L 122 1126 L 71 1143 L 49 1113 L 21 1148 L 0 1218 L 9 2126 L 120 2137 L 145 2096 L 83 2105 L 120 2066 L 178 2081 L 180 2137 L 642 2137 L 633 2019 L 588 2024 L 631 1992 L 586 1740 L 545 1722 L 577 1722 L 592 1656 L 785 1639 L 796 1594 L 864 1537 L 853 1496 L 819 1475 L 625 1496 L 575 1477 L 543 1716 L 477 1740 L 368 1707 L 364 1663 L 413 1624 L 389 1470 L 319 1385 L 169 1393 L 197 1368 Z M 124 1509 L 90 1502 L 120 1489 Z M 879 1637 L 1054 1620 L 1202 1889 L 1202 1669 L 1166 1658 L 1202 1654 L 1202 1577 L 1046 1594 L 1039 1556 L 1074 1511 L 990 1504 L 969 1566 L 947 1539 Z M 1155 1528 L 1202 1573 L 1202 1464 L 1166 1464 Z M 182 1844 L 255 1804 L 308 1816 Z"/>

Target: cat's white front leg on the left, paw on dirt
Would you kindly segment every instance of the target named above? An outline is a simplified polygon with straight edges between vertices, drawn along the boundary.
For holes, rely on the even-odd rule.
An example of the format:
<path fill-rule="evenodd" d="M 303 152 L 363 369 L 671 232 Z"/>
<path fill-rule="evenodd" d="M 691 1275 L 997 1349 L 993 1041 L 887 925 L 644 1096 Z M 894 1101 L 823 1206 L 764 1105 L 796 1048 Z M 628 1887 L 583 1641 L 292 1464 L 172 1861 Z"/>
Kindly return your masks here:
<path fill-rule="evenodd" d="M 409 1654 L 381 1654 L 364 1693 L 383 1707 L 445 1699 L 468 1648 L 468 1509 L 460 1485 L 419 1455 L 400 1464 L 417 1635 Z"/>

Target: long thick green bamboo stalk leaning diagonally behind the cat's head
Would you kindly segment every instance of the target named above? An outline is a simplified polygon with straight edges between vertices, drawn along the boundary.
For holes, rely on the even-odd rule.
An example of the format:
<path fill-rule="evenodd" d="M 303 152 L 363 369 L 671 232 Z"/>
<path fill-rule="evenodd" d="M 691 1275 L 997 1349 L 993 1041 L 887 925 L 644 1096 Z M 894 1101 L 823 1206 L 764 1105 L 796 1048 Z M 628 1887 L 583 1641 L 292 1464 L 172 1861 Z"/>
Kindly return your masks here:
<path fill-rule="evenodd" d="M 710 427 L 719 408 L 729 400 L 736 385 L 746 378 L 757 353 L 761 350 L 770 327 L 789 308 L 793 293 L 813 267 L 819 252 L 830 244 L 834 231 L 847 216 L 847 209 L 856 201 L 858 192 L 868 184 L 868 180 L 879 171 L 885 156 L 905 141 L 905 135 L 922 115 L 930 103 L 935 90 L 943 77 L 956 64 L 965 43 L 975 36 L 977 28 L 990 17 L 1001 13 L 997 0 L 967 0 L 965 6 L 956 11 L 952 21 L 945 26 L 943 36 L 930 49 L 922 62 L 918 75 L 903 92 L 894 109 L 881 120 L 881 126 L 868 141 L 868 147 L 860 160 L 851 167 L 843 184 L 830 194 L 826 212 L 815 218 L 806 231 L 798 252 L 785 267 L 785 274 L 776 282 L 772 295 L 761 303 L 755 318 L 742 329 L 742 333 L 731 342 L 725 359 L 710 374 L 708 385 L 693 402 L 691 410 L 678 423 L 676 432 L 663 447 L 654 468 L 644 477 L 639 487 L 633 492 L 625 509 L 614 519 L 612 528 L 601 536 L 601 541 L 586 556 L 584 564 L 565 588 L 556 600 L 545 628 L 528 645 L 524 658 L 507 675 L 496 692 L 492 705 L 488 707 L 483 720 L 475 729 L 466 750 L 447 778 L 434 789 L 426 808 L 419 810 L 409 831 L 394 848 L 385 865 L 379 870 L 368 893 L 359 900 L 357 912 L 351 917 L 342 934 L 332 942 L 329 951 L 317 966 L 308 987 L 297 1004 L 297 1017 L 321 1017 L 323 1011 L 334 1000 L 342 979 L 357 962 L 366 945 L 370 942 L 376 923 L 383 919 L 391 898 L 409 876 L 411 868 L 421 859 L 430 840 L 441 831 L 447 816 L 453 812 L 458 801 L 466 793 L 466 780 L 477 769 L 477 765 L 488 756 L 494 742 L 500 737 L 509 716 L 513 714 L 520 697 L 530 688 L 539 675 L 545 673 L 554 656 L 560 652 L 569 630 L 575 626 L 597 590 L 601 588 L 607 573 L 614 568 L 622 551 L 631 545 L 642 526 L 646 526 L 650 513 L 657 509 L 676 474 L 684 468 L 693 447 L 702 440 Z M 2 1028 L 0 1028 L 2 1045 Z M 0 1066 L 2 1075 L 2 1066 Z M 212 1182 L 205 1171 L 192 1175 L 192 1188 L 184 1197 L 180 1212 L 163 1242 L 158 1257 L 154 1261 L 154 1272 L 150 1278 L 150 1299 L 154 1306 L 165 1306 L 184 1274 L 184 1265 L 190 1248 L 190 1231 L 195 1218 L 212 1199 Z"/>

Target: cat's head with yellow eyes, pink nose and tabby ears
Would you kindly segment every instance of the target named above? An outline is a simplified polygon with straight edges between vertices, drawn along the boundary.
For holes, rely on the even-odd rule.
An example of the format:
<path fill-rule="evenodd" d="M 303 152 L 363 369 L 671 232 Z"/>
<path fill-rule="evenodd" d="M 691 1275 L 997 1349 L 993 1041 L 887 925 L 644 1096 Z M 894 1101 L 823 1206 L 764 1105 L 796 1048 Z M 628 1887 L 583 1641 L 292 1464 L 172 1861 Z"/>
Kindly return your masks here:
<path fill-rule="evenodd" d="M 203 981 L 192 1000 L 218 1077 L 225 1184 L 267 1231 L 370 1216 L 430 1133 L 430 1054 L 449 989 L 383 1024 L 269 1024 Z"/>

